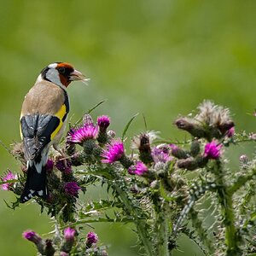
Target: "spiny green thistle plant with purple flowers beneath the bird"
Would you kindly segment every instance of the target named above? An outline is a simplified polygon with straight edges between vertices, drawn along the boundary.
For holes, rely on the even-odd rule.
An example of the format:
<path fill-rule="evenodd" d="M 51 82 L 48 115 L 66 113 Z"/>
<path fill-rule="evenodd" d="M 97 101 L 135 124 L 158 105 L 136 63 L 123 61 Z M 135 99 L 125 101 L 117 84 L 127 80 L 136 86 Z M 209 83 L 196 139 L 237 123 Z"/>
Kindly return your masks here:
<path fill-rule="evenodd" d="M 87 113 L 70 126 L 62 143 L 67 158 L 53 151 L 48 161 L 49 198 L 32 200 L 54 220 L 54 235 L 43 239 L 29 230 L 24 238 L 41 255 L 108 255 L 108 245 L 81 227 L 119 222 L 135 225 L 137 246 L 149 256 L 172 255 L 182 235 L 205 255 L 255 255 L 256 160 L 241 153 L 239 168 L 231 170 L 225 157 L 227 148 L 254 142 L 255 135 L 236 133 L 230 110 L 211 101 L 202 102 L 194 117 L 175 120 L 178 129 L 189 133 L 183 142 L 144 131 L 129 143 L 126 131 L 133 119 L 122 137 L 108 130 L 107 116 L 95 123 Z M 22 145 L 13 147 L 23 173 L 7 172 L 2 188 L 15 193 L 17 201 L 8 205 L 15 209 L 26 166 Z M 107 188 L 108 200 L 84 201 L 81 195 L 96 184 Z"/>

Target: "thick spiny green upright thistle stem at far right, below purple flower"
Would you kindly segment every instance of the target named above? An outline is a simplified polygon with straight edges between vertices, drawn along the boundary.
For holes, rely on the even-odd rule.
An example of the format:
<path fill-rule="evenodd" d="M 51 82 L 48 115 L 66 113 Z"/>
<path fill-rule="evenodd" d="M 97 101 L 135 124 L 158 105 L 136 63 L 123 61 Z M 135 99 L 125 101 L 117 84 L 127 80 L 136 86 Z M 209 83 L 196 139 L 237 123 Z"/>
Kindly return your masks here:
<path fill-rule="evenodd" d="M 221 214 L 223 217 L 223 223 L 225 227 L 225 243 L 227 245 L 226 256 L 240 256 L 241 250 L 238 247 L 237 230 L 234 225 L 235 214 L 233 211 L 232 194 L 227 189 L 227 185 L 224 182 L 224 173 L 221 162 L 216 161 L 217 167 L 217 183 L 218 183 L 218 202 L 221 207 Z"/>

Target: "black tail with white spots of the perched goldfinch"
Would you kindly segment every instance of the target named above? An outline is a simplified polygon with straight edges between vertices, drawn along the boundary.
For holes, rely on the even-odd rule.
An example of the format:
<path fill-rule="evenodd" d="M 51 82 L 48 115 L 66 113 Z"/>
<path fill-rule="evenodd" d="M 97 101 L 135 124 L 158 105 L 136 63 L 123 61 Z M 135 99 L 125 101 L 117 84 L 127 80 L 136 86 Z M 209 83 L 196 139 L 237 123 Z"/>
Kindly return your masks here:
<path fill-rule="evenodd" d="M 20 202 L 24 203 L 37 195 L 42 198 L 48 197 L 47 181 L 46 181 L 46 166 L 42 166 L 42 171 L 38 172 L 38 164 L 32 161 L 28 165 L 26 174 L 25 188 L 20 195 Z"/>

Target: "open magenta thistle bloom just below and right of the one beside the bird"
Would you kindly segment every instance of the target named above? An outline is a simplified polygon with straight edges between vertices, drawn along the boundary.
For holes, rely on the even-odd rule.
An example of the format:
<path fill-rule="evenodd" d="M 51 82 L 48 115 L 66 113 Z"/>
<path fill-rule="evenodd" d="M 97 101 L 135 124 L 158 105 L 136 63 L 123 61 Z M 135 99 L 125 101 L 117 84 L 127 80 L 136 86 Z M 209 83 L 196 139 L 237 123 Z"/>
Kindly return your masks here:
<path fill-rule="evenodd" d="M 120 160 L 125 155 L 124 144 L 119 140 L 115 140 L 107 145 L 107 149 L 102 152 L 102 163 L 112 164 Z"/>

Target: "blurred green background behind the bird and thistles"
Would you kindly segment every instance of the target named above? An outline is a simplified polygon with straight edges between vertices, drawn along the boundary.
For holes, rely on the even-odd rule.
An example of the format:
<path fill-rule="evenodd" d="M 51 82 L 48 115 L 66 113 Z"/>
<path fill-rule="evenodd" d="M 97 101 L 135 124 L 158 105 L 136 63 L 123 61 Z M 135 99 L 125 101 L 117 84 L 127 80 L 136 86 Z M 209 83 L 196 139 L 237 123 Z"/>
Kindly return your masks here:
<path fill-rule="evenodd" d="M 54 61 L 68 61 L 90 77 L 90 85 L 69 88 L 73 120 L 102 99 L 97 114 L 108 114 L 121 134 L 134 113 L 143 113 L 148 129 L 166 138 L 183 138 L 172 123 L 205 98 L 231 109 L 236 131 L 256 131 L 247 113 L 256 107 L 256 1 L 239 0 L 95 0 L 1 1 L 0 138 L 19 141 L 20 105 L 38 73 Z M 143 115 L 128 136 L 144 130 Z M 232 165 L 253 146 L 230 149 Z M 0 172 L 20 172 L 0 148 Z M 0 192 L 2 255 L 35 255 L 23 230 L 51 230 L 39 207 L 15 212 L 4 204 L 14 195 Z M 101 197 L 102 190 L 93 190 Z M 90 195 L 88 195 L 88 198 Z M 131 226 L 97 224 L 109 255 L 139 255 Z M 202 255 L 186 237 L 175 255 Z"/>

